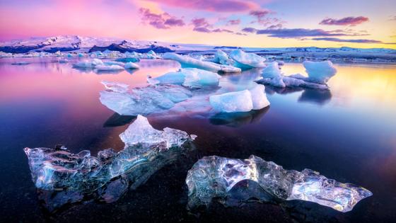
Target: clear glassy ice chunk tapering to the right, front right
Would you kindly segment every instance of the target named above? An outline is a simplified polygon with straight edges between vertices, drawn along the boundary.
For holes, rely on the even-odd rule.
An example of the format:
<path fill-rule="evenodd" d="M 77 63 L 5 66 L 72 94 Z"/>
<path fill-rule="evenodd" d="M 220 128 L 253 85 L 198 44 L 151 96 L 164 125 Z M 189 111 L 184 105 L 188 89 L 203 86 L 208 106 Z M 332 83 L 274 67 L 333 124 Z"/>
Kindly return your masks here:
<path fill-rule="evenodd" d="M 249 159 L 206 156 L 187 173 L 189 207 L 209 205 L 212 198 L 226 200 L 231 188 L 244 180 L 257 182 L 276 198 L 316 202 L 339 212 L 349 212 L 357 202 L 373 195 L 365 188 L 339 183 L 310 169 L 285 170 L 258 156 Z"/>

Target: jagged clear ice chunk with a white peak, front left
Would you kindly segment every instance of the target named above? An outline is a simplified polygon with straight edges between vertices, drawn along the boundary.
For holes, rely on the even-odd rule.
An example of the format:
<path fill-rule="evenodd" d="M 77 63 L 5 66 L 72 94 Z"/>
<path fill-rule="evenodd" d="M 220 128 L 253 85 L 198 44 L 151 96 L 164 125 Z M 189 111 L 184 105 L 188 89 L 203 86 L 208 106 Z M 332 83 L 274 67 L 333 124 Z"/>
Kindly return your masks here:
<path fill-rule="evenodd" d="M 119 152 L 105 149 L 95 157 L 88 150 L 72 154 L 64 147 L 24 151 L 33 182 L 45 205 L 53 210 L 83 199 L 117 200 L 128 188 L 136 188 L 175 160 L 177 152 L 191 147 L 195 137 L 170 128 L 155 130 L 138 115 L 120 135 L 125 147 Z"/>

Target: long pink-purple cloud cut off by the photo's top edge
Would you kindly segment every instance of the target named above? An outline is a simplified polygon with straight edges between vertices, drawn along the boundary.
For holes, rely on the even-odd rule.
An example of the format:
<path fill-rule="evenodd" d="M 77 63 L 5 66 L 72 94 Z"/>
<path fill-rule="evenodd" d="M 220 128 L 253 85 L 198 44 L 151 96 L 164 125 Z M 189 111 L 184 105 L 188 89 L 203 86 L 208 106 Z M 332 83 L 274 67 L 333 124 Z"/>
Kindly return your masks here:
<path fill-rule="evenodd" d="M 244 0 L 148 0 L 158 4 L 189 8 L 194 10 L 215 11 L 215 12 L 235 12 L 249 11 L 258 8 L 254 1 Z"/>

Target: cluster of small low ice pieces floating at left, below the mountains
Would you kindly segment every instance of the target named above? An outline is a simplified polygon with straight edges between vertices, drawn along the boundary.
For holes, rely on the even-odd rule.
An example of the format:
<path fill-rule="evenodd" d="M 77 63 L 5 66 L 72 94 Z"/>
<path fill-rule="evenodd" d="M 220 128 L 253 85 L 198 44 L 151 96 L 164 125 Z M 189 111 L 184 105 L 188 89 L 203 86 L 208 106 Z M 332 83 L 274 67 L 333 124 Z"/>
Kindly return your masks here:
<path fill-rule="evenodd" d="M 73 67 L 76 68 L 91 68 L 98 71 L 116 71 L 122 69 L 137 69 L 139 68 L 138 64 L 133 62 L 117 62 L 117 61 L 105 61 L 103 62 L 101 59 L 84 59 L 81 62 L 76 62 L 73 64 Z"/>

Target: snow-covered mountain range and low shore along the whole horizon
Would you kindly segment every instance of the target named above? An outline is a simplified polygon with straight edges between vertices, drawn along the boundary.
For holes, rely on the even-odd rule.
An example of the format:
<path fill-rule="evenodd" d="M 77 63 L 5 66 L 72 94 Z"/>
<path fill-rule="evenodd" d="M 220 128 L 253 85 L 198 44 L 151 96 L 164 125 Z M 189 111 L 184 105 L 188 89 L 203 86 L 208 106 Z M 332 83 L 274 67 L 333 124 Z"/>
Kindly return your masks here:
<path fill-rule="evenodd" d="M 59 35 L 49 38 L 29 38 L 27 40 L 13 40 L 0 42 L 0 51 L 11 53 L 25 52 L 94 52 L 115 50 L 120 52 L 204 52 L 213 53 L 215 50 L 235 50 L 240 48 L 259 54 L 298 55 L 329 57 L 360 57 L 376 55 L 375 57 L 396 57 L 396 50 L 385 48 L 361 49 L 351 47 L 220 47 L 197 44 L 177 44 L 170 42 L 126 40 L 121 38 L 94 38 L 78 35 Z M 318 55 L 319 54 L 319 55 Z M 365 56 L 366 55 L 366 56 Z"/>

